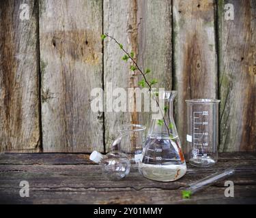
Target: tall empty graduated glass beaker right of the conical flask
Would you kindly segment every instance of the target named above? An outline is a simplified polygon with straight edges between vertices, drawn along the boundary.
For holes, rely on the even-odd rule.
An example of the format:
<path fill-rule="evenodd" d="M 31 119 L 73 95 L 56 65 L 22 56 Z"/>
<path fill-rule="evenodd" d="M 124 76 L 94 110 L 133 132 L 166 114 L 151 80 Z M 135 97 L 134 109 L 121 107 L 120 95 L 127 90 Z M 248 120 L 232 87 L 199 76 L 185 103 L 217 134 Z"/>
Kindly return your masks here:
<path fill-rule="evenodd" d="M 188 162 L 209 167 L 218 160 L 218 99 L 188 99 Z"/>

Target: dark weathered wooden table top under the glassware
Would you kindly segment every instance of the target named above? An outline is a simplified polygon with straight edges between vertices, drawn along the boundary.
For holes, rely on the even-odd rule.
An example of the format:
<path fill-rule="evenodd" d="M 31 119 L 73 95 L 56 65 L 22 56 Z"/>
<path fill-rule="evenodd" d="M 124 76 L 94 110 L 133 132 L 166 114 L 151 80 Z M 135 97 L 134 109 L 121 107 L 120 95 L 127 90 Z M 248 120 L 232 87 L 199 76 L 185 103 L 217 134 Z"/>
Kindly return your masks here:
<path fill-rule="evenodd" d="M 87 154 L 7 153 L 0 155 L 0 203 L 13 204 L 247 204 L 256 203 L 256 154 L 220 153 L 212 168 L 188 164 L 183 178 L 170 183 L 143 178 L 132 166 L 122 181 L 109 181 Z M 224 181 L 203 189 L 190 199 L 181 190 L 216 170 L 236 167 L 228 178 L 234 197 L 227 198 Z M 20 181 L 29 183 L 29 197 L 20 197 Z"/>

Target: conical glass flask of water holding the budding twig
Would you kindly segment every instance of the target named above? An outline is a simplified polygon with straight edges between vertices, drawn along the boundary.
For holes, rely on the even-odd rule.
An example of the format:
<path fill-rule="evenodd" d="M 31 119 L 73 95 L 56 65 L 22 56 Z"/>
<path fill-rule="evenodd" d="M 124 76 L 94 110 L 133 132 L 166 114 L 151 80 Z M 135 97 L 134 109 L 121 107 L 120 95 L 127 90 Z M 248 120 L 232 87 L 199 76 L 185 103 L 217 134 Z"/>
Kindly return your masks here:
<path fill-rule="evenodd" d="M 153 94 L 162 116 L 155 119 L 152 115 L 139 172 L 154 181 L 175 181 L 186 173 L 186 161 L 173 119 L 173 99 L 176 94 L 176 91 L 162 91 L 157 97 Z"/>

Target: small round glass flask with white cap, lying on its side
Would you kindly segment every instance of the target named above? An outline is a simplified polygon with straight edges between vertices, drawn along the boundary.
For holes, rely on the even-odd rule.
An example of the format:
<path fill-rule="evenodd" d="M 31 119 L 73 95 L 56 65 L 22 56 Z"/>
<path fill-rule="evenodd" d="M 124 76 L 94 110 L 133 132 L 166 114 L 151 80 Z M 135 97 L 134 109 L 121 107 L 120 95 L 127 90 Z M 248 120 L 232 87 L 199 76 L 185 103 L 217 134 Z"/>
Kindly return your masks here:
<path fill-rule="evenodd" d="M 91 153 L 89 159 L 94 163 L 99 163 L 102 167 L 102 174 L 112 181 L 117 181 L 130 172 L 130 161 L 124 153 L 111 151 L 102 155 L 98 151 Z"/>

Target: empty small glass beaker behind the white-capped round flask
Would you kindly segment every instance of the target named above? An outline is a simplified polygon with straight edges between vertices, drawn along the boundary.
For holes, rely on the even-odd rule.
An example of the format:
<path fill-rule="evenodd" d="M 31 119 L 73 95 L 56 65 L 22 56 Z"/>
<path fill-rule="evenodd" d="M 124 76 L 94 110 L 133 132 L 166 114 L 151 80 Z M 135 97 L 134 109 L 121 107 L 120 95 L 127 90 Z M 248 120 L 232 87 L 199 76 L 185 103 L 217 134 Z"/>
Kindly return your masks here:
<path fill-rule="evenodd" d="M 131 163 L 139 163 L 142 160 L 142 149 L 145 142 L 145 129 L 144 125 L 128 124 L 119 126 L 119 134 L 122 136 L 120 140 L 113 143 L 119 143 L 119 151 L 122 151 Z"/>

